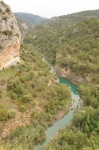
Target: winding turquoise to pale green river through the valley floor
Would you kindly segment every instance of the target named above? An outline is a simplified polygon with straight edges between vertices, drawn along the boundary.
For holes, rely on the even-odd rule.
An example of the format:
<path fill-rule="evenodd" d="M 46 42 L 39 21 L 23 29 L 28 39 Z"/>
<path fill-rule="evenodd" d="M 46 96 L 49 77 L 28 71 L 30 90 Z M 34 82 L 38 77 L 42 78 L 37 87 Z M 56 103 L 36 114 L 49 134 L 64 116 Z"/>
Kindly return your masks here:
<path fill-rule="evenodd" d="M 58 132 L 58 130 L 64 128 L 66 125 L 68 125 L 71 122 L 75 109 L 80 107 L 80 93 L 77 89 L 77 85 L 61 77 L 59 77 L 59 82 L 67 84 L 71 87 L 72 106 L 69 112 L 63 118 L 56 121 L 53 126 L 49 127 L 46 130 L 45 141 L 43 142 L 42 145 L 37 145 L 35 147 L 35 150 L 43 150 L 44 146 L 46 146 L 46 144 L 50 142 L 50 140 L 54 137 L 54 135 Z"/>

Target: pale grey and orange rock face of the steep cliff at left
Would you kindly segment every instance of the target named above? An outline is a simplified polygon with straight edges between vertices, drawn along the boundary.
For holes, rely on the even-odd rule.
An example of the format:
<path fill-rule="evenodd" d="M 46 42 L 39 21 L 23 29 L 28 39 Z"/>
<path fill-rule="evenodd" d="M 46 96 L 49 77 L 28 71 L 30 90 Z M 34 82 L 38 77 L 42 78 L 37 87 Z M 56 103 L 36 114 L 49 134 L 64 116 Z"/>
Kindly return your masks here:
<path fill-rule="evenodd" d="M 19 62 L 21 34 L 8 5 L 0 1 L 0 70 Z"/>

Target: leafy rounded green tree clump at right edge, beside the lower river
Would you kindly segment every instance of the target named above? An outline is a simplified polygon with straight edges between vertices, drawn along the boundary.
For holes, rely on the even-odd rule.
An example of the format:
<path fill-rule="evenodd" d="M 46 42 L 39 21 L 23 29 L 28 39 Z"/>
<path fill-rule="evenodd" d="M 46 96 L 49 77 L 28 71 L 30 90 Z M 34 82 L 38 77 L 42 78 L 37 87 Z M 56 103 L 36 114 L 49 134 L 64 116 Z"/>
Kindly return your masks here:
<path fill-rule="evenodd" d="M 98 111 L 93 107 L 86 107 L 74 115 L 73 124 L 89 134 L 98 131 L 98 119 Z"/>

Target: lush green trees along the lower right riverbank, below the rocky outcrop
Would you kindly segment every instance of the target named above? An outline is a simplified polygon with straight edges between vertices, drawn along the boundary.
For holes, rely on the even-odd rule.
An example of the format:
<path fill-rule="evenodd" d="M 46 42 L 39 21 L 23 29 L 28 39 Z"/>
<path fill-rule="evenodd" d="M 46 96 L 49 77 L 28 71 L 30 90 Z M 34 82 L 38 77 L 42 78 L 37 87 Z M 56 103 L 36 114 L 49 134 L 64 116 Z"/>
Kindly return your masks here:
<path fill-rule="evenodd" d="M 99 84 L 81 85 L 84 107 L 76 112 L 72 125 L 60 130 L 45 150 L 97 150 L 99 148 Z"/>

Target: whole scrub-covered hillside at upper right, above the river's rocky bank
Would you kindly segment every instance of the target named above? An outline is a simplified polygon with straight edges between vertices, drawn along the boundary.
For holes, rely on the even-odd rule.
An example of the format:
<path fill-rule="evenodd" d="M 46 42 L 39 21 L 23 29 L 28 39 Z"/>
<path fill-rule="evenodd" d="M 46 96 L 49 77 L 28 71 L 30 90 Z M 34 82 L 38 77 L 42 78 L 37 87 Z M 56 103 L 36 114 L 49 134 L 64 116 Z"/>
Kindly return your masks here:
<path fill-rule="evenodd" d="M 87 12 L 83 13 L 87 14 Z M 60 75 L 66 76 L 68 72 L 66 70 L 70 68 L 71 72 L 76 73 L 76 75 L 82 78 L 86 78 L 86 80 L 88 79 L 87 76 L 92 78 L 93 72 L 98 73 L 99 71 L 99 21 L 97 13 L 96 19 L 92 17 L 86 20 L 85 17 L 85 21 L 69 27 L 67 27 L 67 23 L 64 23 L 63 26 L 61 25 L 63 20 L 58 20 L 58 23 L 50 21 L 42 26 L 35 27 L 27 35 L 25 41 L 27 43 L 31 42 L 34 47 L 43 53 L 48 61 L 56 67 L 58 66 L 56 71 L 60 70 L 59 67 L 64 68 L 65 72 L 60 70 Z M 81 18 L 80 20 L 83 19 Z"/>

